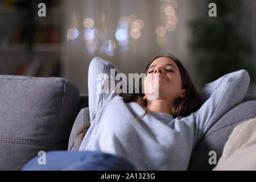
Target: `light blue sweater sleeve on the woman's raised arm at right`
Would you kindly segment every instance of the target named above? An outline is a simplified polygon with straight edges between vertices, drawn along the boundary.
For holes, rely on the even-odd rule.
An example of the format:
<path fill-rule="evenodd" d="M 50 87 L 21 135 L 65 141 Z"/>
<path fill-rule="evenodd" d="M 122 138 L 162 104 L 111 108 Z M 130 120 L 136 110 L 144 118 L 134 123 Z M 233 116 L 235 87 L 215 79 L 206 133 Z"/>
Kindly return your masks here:
<path fill-rule="evenodd" d="M 202 137 L 222 115 L 243 100 L 249 83 L 250 76 L 242 69 L 204 86 L 201 92 L 204 104 L 196 112 L 197 138 Z"/>

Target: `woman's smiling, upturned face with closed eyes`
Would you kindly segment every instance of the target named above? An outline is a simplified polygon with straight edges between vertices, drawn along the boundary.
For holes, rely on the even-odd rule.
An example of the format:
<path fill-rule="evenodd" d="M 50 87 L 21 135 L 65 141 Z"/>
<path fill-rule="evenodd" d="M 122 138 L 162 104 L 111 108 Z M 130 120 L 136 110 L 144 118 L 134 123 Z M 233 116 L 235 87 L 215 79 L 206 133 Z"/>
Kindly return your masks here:
<path fill-rule="evenodd" d="M 147 100 L 172 101 L 184 97 L 185 89 L 181 88 L 181 75 L 174 60 L 159 57 L 150 64 L 144 79 L 144 93 Z"/>

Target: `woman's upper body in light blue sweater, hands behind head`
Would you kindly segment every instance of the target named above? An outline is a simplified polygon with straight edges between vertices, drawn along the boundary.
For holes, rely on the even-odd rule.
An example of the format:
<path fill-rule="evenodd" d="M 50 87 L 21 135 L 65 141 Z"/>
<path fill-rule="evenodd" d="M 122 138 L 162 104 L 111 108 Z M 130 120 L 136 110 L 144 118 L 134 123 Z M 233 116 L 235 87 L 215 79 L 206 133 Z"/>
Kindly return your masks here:
<path fill-rule="evenodd" d="M 121 156 L 138 170 L 186 170 L 195 144 L 242 101 L 250 81 L 245 70 L 229 73 L 205 85 L 199 96 L 180 61 L 167 55 L 157 56 L 147 65 L 144 93 L 97 92 L 98 85 L 106 81 L 97 80 L 98 75 L 110 77 L 110 69 L 121 73 L 100 57 L 89 65 L 90 127 L 80 151 Z M 152 84 L 154 81 L 158 84 Z M 158 90 L 158 97 L 149 99 L 145 85 Z M 142 90 L 142 81 L 140 87 Z"/>

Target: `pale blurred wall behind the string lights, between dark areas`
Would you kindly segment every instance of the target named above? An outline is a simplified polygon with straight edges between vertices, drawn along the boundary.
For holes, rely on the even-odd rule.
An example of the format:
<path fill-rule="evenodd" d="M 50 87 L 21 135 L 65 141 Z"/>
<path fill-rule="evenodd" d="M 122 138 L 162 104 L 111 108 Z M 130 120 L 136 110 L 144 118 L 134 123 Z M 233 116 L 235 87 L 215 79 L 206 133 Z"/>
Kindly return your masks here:
<path fill-rule="evenodd" d="M 76 3 L 71 1 L 66 1 L 65 3 L 67 13 L 66 30 L 73 28 L 74 24 L 72 22 L 74 19 L 77 19 L 75 23 L 77 30 L 84 30 L 84 19 L 92 18 L 94 20 L 93 28 L 105 26 L 108 30 L 108 39 L 114 40 L 115 44 L 117 44 L 117 40 L 114 33 L 117 30 L 119 18 L 135 14 L 137 19 L 142 19 L 144 23 L 141 36 L 138 39 L 130 37 L 129 45 L 123 49 L 116 45 L 112 56 L 107 53 L 101 53 L 98 50 L 99 48 L 94 54 L 90 54 L 86 49 L 86 43 L 79 40 L 81 35 L 77 39 L 67 42 L 65 77 L 77 85 L 81 93 L 88 93 L 88 65 L 94 56 L 101 56 L 116 65 L 123 73 L 128 74 L 142 73 L 147 63 L 156 55 L 173 53 L 182 61 L 194 84 L 199 87 L 200 84 L 197 82 L 192 58 L 187 48 L 189 30 L 186 23 L 189 19 L 200 16 L 203 13 L 199 7 L 207 8 L 206 5 L 202 6 L 204 5 L 203 1 L 177 1 L 177 7 L 175 7 L 176 28 L 174 31 L 167 31 L 163 37 L 156 35 L 156 28 L 164 26 L 166 23 L 166 20 L 161 18 L 163 15 L 160 15 L 162 12 L 160 5 L 164 2 L 159 0 L 80 0 L 76 1 Z M 105 16 L 104 23 L 101 22 L 101 14 Z"/>

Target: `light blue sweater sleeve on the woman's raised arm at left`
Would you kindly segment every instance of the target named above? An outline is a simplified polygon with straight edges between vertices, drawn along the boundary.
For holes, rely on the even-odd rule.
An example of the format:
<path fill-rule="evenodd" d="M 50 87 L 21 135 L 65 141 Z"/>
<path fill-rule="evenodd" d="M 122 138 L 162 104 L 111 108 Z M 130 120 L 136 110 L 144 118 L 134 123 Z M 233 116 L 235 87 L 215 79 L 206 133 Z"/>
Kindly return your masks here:
<path fill-rule="evenodd" d="M 97 111 L 118 95 L 115 86 L 120 80 L 122 81 L 122 78 L 115 79 L 118 73 L 121 73 L 118 68 L 101 57 L 94 57 L 90 62 L 88 70 L 90 123 Z"/>

